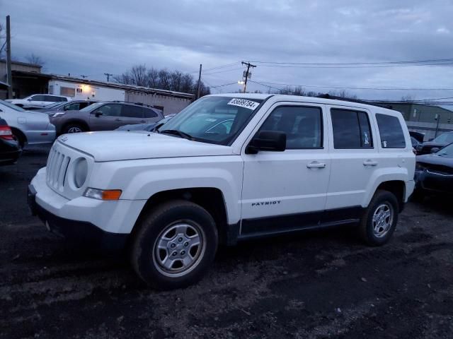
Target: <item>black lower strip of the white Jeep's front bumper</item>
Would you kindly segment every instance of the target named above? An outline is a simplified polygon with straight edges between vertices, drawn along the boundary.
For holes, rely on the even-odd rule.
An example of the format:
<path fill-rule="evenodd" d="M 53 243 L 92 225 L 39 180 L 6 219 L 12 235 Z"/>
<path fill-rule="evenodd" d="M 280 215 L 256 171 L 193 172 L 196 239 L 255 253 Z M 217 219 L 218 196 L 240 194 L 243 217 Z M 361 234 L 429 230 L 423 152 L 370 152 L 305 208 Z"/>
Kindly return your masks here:
<path fill-rule="evenodd" d="M 27 201 L 33 215 L 38 215 L 47 230 L 84 246 L 96 246 L 106 250 L 118 250 L 125 247 L 127 234 L 111 233 L 101 230 L 91 222 L 71 220 L 59 217 L 45 210 L 36 203 L 36 190 L 33 185 L 28 186 Z"/>

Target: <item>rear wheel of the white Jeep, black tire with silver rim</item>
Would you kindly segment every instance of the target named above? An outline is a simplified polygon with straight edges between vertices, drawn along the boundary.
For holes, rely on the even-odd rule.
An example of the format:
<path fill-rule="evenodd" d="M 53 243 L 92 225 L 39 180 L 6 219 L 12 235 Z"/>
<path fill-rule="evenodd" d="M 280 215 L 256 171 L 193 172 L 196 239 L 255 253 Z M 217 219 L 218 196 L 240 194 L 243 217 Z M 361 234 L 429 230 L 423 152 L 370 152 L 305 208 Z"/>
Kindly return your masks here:
<path fill-rule="evenodd" d="M 383 214 L 379 215 L 380 218 L 377 220 L 384 220 L 382 224 L 373 220 L 374 215 L 379 212 L 379 208 Z M 386 208 L 391 214 L 389 218 L 385 216 Z M 360 220 L 359 231 L 362 240 L 369 246 L 381 246 L 389 242 L 396 229 L 398 212 L 398 200 L 394 194 L 389 191 L 376 191 Z"/>

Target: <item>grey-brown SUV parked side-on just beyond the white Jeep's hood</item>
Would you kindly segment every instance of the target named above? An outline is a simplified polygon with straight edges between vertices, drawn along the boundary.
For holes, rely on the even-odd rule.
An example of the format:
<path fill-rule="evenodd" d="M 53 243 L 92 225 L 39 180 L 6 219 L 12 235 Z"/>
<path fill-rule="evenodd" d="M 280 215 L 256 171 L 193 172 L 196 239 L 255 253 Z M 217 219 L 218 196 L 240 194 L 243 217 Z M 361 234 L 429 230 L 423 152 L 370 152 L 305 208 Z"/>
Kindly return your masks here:
<path fill-rule="evenodd" d="M 96 102 L 79 111 L 57 112 L 50 117 L 57 135 L 86 131 L 113 131 L 127 124 L 150 124 L 164 118 L 161 110 L 131 102 Z"/>

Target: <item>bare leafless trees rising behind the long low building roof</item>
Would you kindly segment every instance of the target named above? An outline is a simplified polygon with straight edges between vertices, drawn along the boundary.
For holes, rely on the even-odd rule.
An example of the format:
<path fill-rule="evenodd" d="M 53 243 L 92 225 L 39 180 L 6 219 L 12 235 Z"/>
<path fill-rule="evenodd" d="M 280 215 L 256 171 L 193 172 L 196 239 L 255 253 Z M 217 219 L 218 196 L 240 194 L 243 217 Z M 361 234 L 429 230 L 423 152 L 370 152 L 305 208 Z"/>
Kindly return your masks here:
<path fill-rule="evenodd" d="M 197 94 L 198 80 L 189 74 L 181 71 L 168 71 L 168 69 L 147 68 L 144 64 L 132 66 L 120 76 L 113 76 L 117 83 L 126 85 L 137 85 L 160 90 L 173 90 L 175 92 Z M 210 88 L 202 81 L 200 82 L 200 96 L 210 94 Z"/>

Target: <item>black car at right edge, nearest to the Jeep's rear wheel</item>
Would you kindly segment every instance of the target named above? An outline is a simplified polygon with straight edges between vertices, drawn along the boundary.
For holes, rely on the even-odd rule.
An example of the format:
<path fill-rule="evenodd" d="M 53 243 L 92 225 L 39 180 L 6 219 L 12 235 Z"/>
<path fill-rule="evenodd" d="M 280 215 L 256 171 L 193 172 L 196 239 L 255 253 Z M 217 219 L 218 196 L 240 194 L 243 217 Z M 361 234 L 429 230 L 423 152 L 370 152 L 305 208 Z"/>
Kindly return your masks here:
<path fill-rule="evenodd" d="M 453 193 L 453 143 L 436 153 L 418 155 L 414 198 L 428 193 Z"/>

